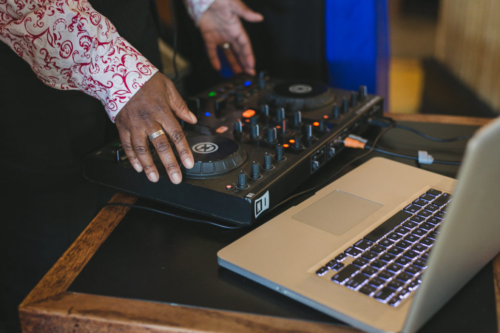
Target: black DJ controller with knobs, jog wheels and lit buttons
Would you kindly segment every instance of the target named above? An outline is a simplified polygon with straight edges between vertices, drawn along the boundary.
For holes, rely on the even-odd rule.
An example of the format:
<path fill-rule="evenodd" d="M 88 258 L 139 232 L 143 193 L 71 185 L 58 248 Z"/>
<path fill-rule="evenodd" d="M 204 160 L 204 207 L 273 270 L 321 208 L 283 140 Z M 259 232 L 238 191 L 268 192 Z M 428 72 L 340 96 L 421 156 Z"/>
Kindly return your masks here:
<path fill-rule="evenodd" d="M 194 125 L 181 123 L 194 167 L 170 182 L 151 146 L 159 181 L 137 173 L 119 142 L 84 159 L 85 176 L 138 197 L 250 225 L 282 201 L 382 113 L 382 98 L 318 82 L 236 76 L 186 100 Z M 174 149 L 175 150 L 175 149 Z M 179 163 L 179 165 L 181 165 Z"/>

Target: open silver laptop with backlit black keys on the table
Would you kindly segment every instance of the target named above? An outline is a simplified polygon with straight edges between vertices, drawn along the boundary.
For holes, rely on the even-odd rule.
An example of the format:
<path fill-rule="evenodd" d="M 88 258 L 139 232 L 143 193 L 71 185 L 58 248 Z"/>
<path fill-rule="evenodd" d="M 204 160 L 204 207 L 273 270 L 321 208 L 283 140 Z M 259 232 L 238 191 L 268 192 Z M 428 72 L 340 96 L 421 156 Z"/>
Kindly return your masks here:
<path fill-rule="evenodd" d="M 415 332 L 500 252 L 500 119 L 457 180 L 374 157 L 217 253 L 220 266 L 368 332 Z"/>

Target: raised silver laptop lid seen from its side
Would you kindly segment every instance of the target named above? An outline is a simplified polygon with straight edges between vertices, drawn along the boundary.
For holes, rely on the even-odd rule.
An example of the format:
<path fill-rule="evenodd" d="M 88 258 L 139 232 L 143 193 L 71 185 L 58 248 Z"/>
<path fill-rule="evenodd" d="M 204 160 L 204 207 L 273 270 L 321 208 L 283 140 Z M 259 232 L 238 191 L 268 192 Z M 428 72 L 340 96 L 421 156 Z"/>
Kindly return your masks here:
<path fill-rule="evenodd" d="M 403 332 L 414 332 L 500 252 L 500 118 L 468 142 Z"/>

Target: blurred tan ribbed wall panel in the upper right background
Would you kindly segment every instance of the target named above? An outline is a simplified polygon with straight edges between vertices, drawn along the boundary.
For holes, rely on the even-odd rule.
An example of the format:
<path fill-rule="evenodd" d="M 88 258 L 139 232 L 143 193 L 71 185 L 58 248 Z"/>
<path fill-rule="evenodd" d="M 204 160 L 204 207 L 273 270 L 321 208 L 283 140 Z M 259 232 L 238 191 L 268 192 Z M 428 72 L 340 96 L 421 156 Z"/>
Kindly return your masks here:
<path fill-rule="evenodd" d="M 441 0 L 435 56 L 500 112 L 500 1 Z"/>

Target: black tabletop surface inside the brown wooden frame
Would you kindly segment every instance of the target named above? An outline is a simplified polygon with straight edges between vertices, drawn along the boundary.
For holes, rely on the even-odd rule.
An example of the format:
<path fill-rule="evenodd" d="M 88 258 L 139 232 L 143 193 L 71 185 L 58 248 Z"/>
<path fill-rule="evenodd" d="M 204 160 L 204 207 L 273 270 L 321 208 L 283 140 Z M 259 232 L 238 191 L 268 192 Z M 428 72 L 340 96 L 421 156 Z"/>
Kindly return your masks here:
<path fill-rule="evenodd" d="M 436 123 L 401 124 L 442 138 L 468 135 L 477 129 L 475 126 Z M 373 138 L 377 133 L 378 129 L 372 129 L 365 136 Z M 379 144 L 400 154 L 413 156 L 416 156 L 417 150 L 427 150 L 434 159 L 444 161 L 461 160 L 465 147 L 465 141 L 438 143 L 401 129 L 388 131 Z M 296 191 L 324 183 L 361 153 L 363 151 L 345 149 L 306 183 L 299 185 Z M 372 152 L 342 172 L 347 172 L 373 156 L 386 155 Z M 415 165 L 411 160 L 388 158 Z M 421 167 L 450 177 L 455 177 L 458 170 L 457 166 L 442 164 Z M 139 199 L 136 204 L 193 216 L 146 200 Z M 264 220 L 285 208 L 280 207 Z M 327 315 L 217 265 L 218 250 L 264 222 L 251 227 L 226 230 L 132 208 L 68 291 L 342 325 Z M 491 263 L 463 287 L 421 331 L 497 332 Z"/>

